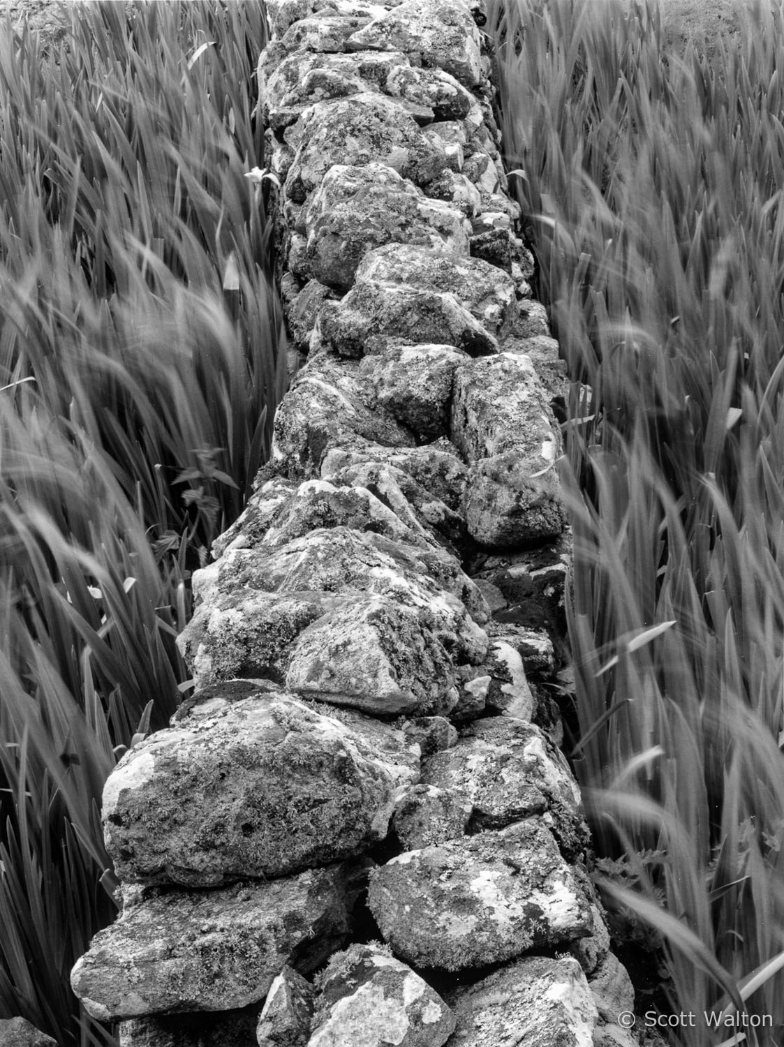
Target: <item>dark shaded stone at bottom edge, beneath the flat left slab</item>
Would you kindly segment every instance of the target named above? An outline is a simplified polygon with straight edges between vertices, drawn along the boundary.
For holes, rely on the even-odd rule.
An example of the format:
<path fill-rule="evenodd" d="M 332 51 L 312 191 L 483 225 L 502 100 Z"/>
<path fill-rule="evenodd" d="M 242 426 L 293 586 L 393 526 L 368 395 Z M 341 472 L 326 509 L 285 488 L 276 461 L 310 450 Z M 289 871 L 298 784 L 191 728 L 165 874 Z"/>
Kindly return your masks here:
<path fill-rule="evenodd" d="M 239 1010 L 130 1018 L 118 1025 L 119 1047 L 256 1047 L 259 1004 Z"/>

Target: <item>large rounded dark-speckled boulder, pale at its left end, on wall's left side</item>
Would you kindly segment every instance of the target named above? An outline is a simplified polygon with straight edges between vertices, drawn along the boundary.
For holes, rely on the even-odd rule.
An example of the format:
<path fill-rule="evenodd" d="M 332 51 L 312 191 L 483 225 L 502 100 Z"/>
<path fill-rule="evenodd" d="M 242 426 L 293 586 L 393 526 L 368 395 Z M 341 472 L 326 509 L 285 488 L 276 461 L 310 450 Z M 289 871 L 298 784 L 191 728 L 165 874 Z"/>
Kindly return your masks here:
<path fill-rule="evenodd" d="M 125 882 L 283 876 L 386 836 L 402 768 L 358 732 L 261 689 L 205 713 L 135 745 L 107 780 L 106 846 Z"/>

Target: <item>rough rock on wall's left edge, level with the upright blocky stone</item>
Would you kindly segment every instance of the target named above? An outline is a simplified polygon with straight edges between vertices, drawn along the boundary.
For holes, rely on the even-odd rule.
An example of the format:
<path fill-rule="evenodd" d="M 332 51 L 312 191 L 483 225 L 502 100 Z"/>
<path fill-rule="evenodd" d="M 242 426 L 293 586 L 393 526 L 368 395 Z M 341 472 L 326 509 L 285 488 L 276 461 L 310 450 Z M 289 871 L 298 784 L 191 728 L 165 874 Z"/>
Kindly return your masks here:
<path fill-rule="evenodd" d="M 317 475 L 327 450 L 355 436 L 387 447 L 411 446 L 415 439 L 378 405 L 373 384 L 356 364 L 340 366 L 323 357 L 308 363 L 275 415 L 273 461 L 285 463 L 290 475 Z"/>

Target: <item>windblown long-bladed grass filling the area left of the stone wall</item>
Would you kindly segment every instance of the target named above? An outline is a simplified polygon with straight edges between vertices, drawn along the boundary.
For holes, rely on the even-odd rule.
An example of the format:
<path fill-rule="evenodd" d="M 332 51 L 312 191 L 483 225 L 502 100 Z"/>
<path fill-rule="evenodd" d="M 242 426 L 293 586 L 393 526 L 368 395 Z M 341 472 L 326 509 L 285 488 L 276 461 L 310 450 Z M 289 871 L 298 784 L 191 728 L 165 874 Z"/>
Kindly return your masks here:
<path fill-rule="evenodd" d="M 285 388 L 262 5 L 0 31 L 0 1017 L 113 1043 L 68 974 L 116 912 L 99 803 L 187 688 L 189 577 Z"/>

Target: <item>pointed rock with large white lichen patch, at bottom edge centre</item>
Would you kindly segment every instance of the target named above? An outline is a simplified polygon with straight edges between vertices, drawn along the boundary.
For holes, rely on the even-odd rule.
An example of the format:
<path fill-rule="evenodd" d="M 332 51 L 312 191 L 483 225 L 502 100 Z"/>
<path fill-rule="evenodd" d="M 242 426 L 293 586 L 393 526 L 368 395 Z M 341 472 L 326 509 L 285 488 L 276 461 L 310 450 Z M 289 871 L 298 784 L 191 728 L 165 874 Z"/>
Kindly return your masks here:
<path fill-rule="evenodd" d="M 441 997 L 383 945 L 352 945 L 319 976 L 308 1047 L 442 1047 L 454 1019 Z"/>

